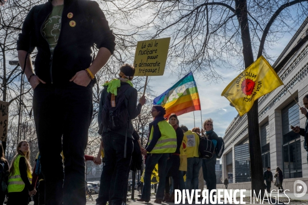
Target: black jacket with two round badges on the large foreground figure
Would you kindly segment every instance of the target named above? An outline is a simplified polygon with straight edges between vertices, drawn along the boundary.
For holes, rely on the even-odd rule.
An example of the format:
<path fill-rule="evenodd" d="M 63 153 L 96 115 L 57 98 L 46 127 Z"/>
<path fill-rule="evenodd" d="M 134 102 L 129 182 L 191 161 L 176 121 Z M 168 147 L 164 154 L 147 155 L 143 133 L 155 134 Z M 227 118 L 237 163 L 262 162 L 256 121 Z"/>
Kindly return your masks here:
<path fill-rule="evenodd" d="M 61 33 L 53 56 L 42 35 L 42 25 L 52 11 L 51 0 L 34 6 L 29 11 L 18 36 L 17 50 L 31 53 L 37 48 L 35 74 L 47 83 L 68 83 L 76 72 L 88 68 L 92 61 L 91 47 L 94 44 L 98 49 L 105 47 L 111 53 L 114 51 L 115 37 L 98 3 L 86 1 L 83 11 L 78 3 L 78 0 L 64 0 Z M 70 12 L 73 13 L 72 18 L 67 17 Z M 75 21 L 75 27 L 69 25 L 71 20 Z"/>

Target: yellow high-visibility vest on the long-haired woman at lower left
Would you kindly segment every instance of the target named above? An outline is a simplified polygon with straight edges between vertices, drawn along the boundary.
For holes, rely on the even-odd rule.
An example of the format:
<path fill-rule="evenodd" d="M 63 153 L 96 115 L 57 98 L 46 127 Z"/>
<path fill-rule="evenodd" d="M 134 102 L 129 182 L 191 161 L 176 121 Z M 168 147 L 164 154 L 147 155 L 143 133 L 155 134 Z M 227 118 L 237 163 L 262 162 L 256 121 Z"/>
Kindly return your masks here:
<path fill-rule="evenodd" d="M 8 180 L 8 192 L 21 192 L 25 189 L 25 182 L 21 177 L 21 172 L 19 169 L 19 161 L 21 157 L 25 157 L 23 155 L 18 155 L 14 161 L 14 175 L 9 175 Z M 30 171 L 27 171 L 28 179 L 30 183 L 32 183 L 32 175 Z"/>

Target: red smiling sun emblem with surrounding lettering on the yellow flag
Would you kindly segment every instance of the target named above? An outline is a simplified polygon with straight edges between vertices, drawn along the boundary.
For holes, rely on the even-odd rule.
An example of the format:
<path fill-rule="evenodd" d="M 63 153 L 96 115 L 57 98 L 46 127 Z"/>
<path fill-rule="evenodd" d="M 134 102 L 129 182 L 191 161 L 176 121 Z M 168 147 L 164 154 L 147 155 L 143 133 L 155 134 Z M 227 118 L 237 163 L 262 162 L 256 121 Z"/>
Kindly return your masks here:
<path fill-rule="evenodd" d="M 262 80 L 257 80 L 257 74 L 252 72 L 242 72 L 236 80 L 237 92 L 243 93 L 246 103 L 250 103 L 262 89 Z"/>

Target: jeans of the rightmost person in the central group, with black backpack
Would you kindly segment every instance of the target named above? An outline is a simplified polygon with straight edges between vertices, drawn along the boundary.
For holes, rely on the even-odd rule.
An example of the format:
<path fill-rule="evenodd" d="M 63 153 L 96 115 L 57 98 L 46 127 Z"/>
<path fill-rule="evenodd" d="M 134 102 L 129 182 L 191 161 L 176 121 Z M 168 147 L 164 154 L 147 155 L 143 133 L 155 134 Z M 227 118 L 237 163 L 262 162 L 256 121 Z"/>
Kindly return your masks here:
<path fill-rule="evenodd" d="M 211 190 L 216 189 L 215 165 L 216 165 L 216 154 L 214 154 L 213 157 L 210 159 L 203 159 L 202 162 L 203 178 L 206 181 L 206 188 L 208 189 L 208 193 L 210 193 Z"/>

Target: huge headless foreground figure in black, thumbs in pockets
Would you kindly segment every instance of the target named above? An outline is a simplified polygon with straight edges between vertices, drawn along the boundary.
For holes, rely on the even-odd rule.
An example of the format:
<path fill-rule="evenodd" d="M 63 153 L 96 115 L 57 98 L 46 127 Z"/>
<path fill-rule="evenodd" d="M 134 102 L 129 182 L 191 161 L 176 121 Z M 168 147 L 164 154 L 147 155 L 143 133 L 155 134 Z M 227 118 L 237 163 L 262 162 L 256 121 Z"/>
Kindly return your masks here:
<path fill-rule="evenodd" d="M 83 205 L 86 196 L 81 185 L 85 181 L 84 152 L 92 121 L 94 76 L 113 54 L 115 37 L 97 2 L 45 2 L 31 8 L 25 18 L 17 40 L 18 60 L 33 89 L 45 202 Z M 92 59 L 94 45 L 99 51 Z"/>

